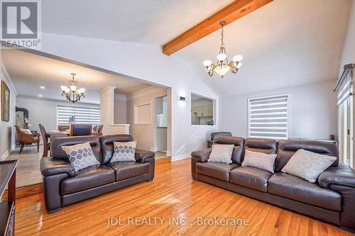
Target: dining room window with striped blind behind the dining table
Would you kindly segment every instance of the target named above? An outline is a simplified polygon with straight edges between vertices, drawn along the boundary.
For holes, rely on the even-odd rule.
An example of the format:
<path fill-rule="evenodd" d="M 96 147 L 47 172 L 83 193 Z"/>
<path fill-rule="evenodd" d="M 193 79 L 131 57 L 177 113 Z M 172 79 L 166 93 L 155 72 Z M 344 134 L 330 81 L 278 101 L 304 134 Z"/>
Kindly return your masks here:
<path fill-rule="evenodd" d="M 75 106 L 57 106 L 58 125 L 69 123 L 69 118 L 75 117 L 77 124 L 100 124 L 100 109 L 99 108 L 84 108 Z"/>

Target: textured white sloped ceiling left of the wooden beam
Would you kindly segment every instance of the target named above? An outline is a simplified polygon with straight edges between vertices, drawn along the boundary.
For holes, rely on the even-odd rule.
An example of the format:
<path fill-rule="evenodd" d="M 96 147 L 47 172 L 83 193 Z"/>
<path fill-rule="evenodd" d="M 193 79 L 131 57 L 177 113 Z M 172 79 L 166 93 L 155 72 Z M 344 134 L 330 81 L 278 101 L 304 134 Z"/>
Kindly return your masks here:
<path fill-rule="evenodd" d="M 163 45 L 231 0 L 45 0 L 43 31 Z"/>

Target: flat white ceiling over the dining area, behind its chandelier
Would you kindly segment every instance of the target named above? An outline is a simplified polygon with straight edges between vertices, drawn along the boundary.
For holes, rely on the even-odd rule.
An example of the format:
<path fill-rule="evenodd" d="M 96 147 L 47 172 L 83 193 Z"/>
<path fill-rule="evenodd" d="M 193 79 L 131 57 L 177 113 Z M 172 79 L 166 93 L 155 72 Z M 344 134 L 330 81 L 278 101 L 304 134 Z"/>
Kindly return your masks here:
<path fill-rule="evenodd" d="M 132 77 L 109 74 L 20 50 L 1 50 L 1 57 L 18 96 L 42 95 L 43 99 L 65 101 L 60 85 L 67 85 L 71 72 L 77 74 L 75 79 L 80 88 L 86 89 L 82 99 L 84 103 L 99 103 L 99 91 L 107 86 L 116 86 L 115 92 L 119 94 L 131 94 L 152 86 Z M 40 86 L 45 89 L 40 89 Z"/>

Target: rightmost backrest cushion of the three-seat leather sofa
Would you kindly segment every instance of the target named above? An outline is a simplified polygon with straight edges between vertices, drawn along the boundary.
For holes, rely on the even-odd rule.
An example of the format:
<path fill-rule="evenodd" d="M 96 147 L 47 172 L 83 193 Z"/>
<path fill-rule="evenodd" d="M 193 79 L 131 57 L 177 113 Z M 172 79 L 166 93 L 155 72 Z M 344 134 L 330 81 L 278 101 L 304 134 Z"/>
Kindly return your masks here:
<path fill-rule="evenodd" d="M 321 142 L 316 140 L 279 140 L 278 157 L 275 159 L 275 172 L 280 172 L 288 160 L 299 149 L 337 157 L 337 160 L 332 164 L 332 167 L 336 167 L 339 164 L 338 147 L 332 142 Z"/>

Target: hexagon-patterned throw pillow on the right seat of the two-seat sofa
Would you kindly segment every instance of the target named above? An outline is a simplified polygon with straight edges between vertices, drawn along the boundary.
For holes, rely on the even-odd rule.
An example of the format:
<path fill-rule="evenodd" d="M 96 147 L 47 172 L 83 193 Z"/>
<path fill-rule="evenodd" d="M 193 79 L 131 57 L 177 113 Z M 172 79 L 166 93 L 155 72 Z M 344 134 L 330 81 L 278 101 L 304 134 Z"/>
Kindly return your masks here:
<path fill-rule="evenodd" d="M 114 154 L 110 162 L 136 162 L 137 141 L 114 142 Z"/>

